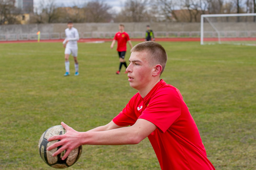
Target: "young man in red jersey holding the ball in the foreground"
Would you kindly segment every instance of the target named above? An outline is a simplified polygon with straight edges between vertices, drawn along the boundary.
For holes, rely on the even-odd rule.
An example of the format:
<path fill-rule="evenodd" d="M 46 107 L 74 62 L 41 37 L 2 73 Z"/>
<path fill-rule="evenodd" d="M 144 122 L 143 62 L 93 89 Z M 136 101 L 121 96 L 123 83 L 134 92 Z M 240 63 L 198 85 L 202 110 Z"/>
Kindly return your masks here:
<path fill-rule="evenodd" d="M 129 58 L 128 81 L 138 90 L 115 118 L 104 126 L 78 132 L 61 122 L 64 135 L 48 147 L 62 147 L 53 156 L 80 145 L 131 145 L 148 137 L 162 170 L 213 170 L 208 160 L 196 123 L 189 113 L 180 91 L 166 84 L 160 75 L 165 69 L 167 54 L 154 41 L 137 44 Z"/>

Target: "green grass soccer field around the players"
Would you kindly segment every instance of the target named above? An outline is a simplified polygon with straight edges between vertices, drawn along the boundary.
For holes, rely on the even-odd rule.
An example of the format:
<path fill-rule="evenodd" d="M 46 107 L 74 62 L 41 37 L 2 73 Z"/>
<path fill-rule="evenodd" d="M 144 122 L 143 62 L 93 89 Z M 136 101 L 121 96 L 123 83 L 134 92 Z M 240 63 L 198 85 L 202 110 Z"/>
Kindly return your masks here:
<path fill-rule="evenodd" d="M 133 42 L 133 45 L 138 42 Z M 177 87 L 218 170 L 256 167 L 256 47 L 159 42 L 162 78 Z M 108 123 L 136 93 L 110 42 L 79 43 L 80 75 L 64 77 L 61 43 L 0 44 L 0 169 L 49 169 L 41 134 L 64 121 L 78 131 Z M 126 59 L 129 58 L 129 52 Z M 72 58 L 71 58 L 72 59 Z M 148 139 L 138 145 L 83 146 L 69 169 L 160 169 Z"/>

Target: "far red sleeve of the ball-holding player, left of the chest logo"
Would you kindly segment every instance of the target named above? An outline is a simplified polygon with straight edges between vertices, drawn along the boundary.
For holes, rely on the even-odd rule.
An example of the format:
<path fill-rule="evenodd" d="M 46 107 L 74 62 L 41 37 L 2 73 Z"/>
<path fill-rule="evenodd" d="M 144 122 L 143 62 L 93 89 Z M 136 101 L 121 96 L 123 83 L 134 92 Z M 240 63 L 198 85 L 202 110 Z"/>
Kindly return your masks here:
<path fill-rule="evenodd" d="M 134 95 L 123 109 L 123 111 L 121 111 L 116 117 L 114 117 L 114 119 L 112 119 L 113 122 L 118 126 L 132 126 L 137 121 L 138 116 L 135 115 L 133 109 L 133 103 L 135 102 L 137 95 L 138 94 Z"/>

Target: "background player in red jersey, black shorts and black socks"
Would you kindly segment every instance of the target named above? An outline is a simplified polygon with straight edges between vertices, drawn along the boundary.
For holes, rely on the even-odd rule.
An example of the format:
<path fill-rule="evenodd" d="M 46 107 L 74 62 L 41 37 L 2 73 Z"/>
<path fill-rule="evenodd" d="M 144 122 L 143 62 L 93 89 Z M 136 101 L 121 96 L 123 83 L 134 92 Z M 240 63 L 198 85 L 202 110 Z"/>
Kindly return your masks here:
<path fill-rule="evenodd" d="M 126 43 L 128 42 L 130 47 L 132 48 L 132 42 L 129 38 L 128 33 L 124 32 L 124 25 L 123 24 L 119 25 L 119 31 L 114 36 L 114 39 L 111 43 L 110 48 L 114 47 L 114 44 L 116 43 L 116 41 L 117 41 L 117 52 L 118 52 L 119 61 L 120 61 L 119 69 L 116 72 L 116 74 L 120 74 L 120 70 L 122 68 L 122 65 L 124 65 L 127 68 L 127 64 L 126 64 L 125 59 L 124 59 L 124 56 L 125 56 L 125 53 L 126 53 L 126 50 L 127 50 Z M 127 73 L 127 72 L 125 72 L 125 73 Z"/>

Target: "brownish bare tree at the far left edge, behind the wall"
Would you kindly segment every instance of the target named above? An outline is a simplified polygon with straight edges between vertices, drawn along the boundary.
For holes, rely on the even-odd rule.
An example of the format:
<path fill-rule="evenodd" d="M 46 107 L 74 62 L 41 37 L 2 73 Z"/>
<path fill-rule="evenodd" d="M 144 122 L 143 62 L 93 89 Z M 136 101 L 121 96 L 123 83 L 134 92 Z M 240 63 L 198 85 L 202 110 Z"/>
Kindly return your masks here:
<path fill-rule="evenodd" d="M 20 23 L 18 15 L 20 9 L 15 7 L 15 0 L 0 0 L 0 25 Z"/>

